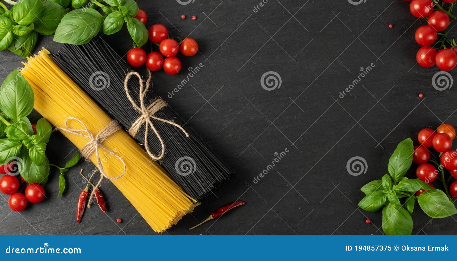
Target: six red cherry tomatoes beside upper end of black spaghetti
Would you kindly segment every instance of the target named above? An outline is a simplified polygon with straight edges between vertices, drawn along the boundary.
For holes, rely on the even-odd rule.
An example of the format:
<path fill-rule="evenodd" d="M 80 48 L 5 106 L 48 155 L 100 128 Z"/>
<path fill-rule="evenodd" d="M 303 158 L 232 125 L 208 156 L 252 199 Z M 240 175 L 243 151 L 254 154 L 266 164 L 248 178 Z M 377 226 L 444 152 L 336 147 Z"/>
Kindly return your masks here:
<path fill-rule="evenodd" d="M 181 60 L 176 57 L 178 52 L 184 56 L 194 56 L 198 52 L 198 44 L 192 38 L 185 38 L 178 43 L 168 38 L 168 29 L 162 24 L 149 28 L 149 40 L 159 46 L 159 52 L 146 52 L 142 48 L 133 48 L 127 53 L 127 61 L 133 67 L 146 65 L 151 71 L 164 68 L 165 73 L 174 75 L 181 71 Z M 164 59 L 165 57 L 165 59 Z"/>

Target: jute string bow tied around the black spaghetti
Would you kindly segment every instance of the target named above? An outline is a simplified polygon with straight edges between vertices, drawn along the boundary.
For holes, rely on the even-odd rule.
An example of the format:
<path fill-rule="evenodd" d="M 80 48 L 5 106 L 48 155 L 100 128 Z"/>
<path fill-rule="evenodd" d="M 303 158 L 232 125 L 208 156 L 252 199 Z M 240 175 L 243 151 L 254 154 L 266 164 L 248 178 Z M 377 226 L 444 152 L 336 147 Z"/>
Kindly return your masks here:
<path fill-rule="evenodd" d="M 144 87 L 143 79 L 141 78 L 139 73 L 130 72 L 125 77 L 125 80 L 124 80 L 125 94 L 127 95 L 128 100 L 132 103 L 133 108 L 135 108 L 135 110 L 137 110 L 140 113 L 140 116 L 138 117 L 137 120 L 135 120 L 133 122 L 132 126 L 128 130 L 128 133 L 130 134 L 130 136 L 135 137 L 137 135 L 138 131 L 141 129 L 141 126 L 143 124 L 146 124 L 146 129 L 144 131 L 144 147 L 146 148 L 146 152 L 148 152 L 149 157 L 151 157 L 152 159 L 157 161 L 157 160 L 160 160 L 165 155 L 165 143 L 164 143 L 162 137 L 160 136 L 159 131 L 157 131 L 157 129 L 155 128 L 152 120 L 160 120 L 160 121 L 163 121 L 163 122 L 168 123 L 170 125 L 173 125 L 176 128 L 179 128 L 186 135 L 186 137 L 189 137 L 189 134 L 187 133 L 187 131 L 185 131 L 181 127 L 181 125 L 176 124 L 173 121 L 165 120 L 165 119 L 162 119 L 162 118 L 154 116 L 158 110 L 160 110 L 160 109 L 164 108 L 165 106 L 167 106 L 167 104 L 165 103 L 165 101 L 163 99 L 160 99 L 160 98 L 156 99 L 151 104 L 149 104 L 149 106 L 147 106 L 147 107 L 144 105 L 144 98 L 146 96 L 146 93 L 149 91 L 149 88 L 151 87 L 150 86 L 151 77 L 152 77 L 151 71 L 148 70 L 148 73 L 149 73 L 149 77 L 148 77 L 148 79 L 146 81 L 146 88 Z M 130 95 L 130 91 L 128 90 L 128 80 L 133 75 L 138 77 L 138 81 L 139 81 L 139 84 L 140 84 L 139 104 L 137 104 L 132 99 L 132 96 Z M 152 129 L 154 131 L 155 136 L 157 136 L 157 139 L 159 139 L 159 142 L 160 142 L 160 146 L 161 146 L 162 151 L 157 156 L 154 155 L 154 153 L 152 153 L 149 150 L 149 146 L 148 146 L 149 129 Z"/>

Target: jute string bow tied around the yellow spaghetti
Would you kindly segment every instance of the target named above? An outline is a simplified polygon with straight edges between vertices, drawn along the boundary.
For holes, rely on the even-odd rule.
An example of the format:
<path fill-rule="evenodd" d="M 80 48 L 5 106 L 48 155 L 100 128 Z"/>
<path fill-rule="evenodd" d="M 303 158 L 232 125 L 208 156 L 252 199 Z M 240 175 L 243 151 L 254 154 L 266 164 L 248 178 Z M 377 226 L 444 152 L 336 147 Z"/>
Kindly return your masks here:
<path fill-rule="evenodd" d="M 70 127 L 68 124 L 68 122 L 70 120 L 78 121 L 84 127 L 84 129 L 75 129 L 75 128 Z M 55 128 L 55 130 L 78 135 L 81 137 L 85 137 L 89 140 L 89 141 L 87 141 L 85 146 L 81 149 L 81 156 L 83 158 L 85 158 L 86 160 L 89 160 L 90 155 L 92 155 L 92 153 L 95 152 L 95 154 L 96 154 L 97 168 L 100 171 L 100 180 L 96 184 L 95 188 L 92 189 L 92 192 L 90 193 L 89 202 L 87 204 L 88 208 L 90 208 L 90 203 L 92 201 L 94 193 L 97 188 L 100 188 L 101 182 L 103 181 L 104 177 L 106 177 L 107 179 L 111 179 L 111 180 L 118 179 L 118 178 L 121 178 L 122 176 L 124 176 L 125 172 L 127 171 L 127 166 L 126 166 L 124 160 L 122 159 L 122 157 L 119 156 L 116 152 L 106 148 L 105 146 L 103 146 L 101 144 L 101 143 L 103 143 L 103 141 L 106 140 L 106 138 L 108 138 L 109 136 L 111 136 L 112 134 L 114 134 L 116 131 L 118 131 L 120 129 L 121 129 L 121 126 L 119 126 L 119 124 L 117 124 L 117 122 L 115 120 L 113 120 L 108 125 L 106 125 L 96 136 L 94 136 L 89 131 L 89 129 L 87 128 L 85 123 L 82 120 L 75 118 L 75 117 L 69 117 L 69 118 L 67 118 L 67 120 L 65 120 L 65 128 L 63 128 L 63 127 Z M 117 157 L 122 162 L 122 164 L 124 165 L 124 171 L 122 172 L 121 175 L 119 175 L 117 177 L 108 177 L 105 174 L 105 171 L 103 170 L 103 163 L 101 163 L 100 154 L 98 151 L 99 148 L 107 151 L 109 154 L 113 155 L 114 157 Z"/>

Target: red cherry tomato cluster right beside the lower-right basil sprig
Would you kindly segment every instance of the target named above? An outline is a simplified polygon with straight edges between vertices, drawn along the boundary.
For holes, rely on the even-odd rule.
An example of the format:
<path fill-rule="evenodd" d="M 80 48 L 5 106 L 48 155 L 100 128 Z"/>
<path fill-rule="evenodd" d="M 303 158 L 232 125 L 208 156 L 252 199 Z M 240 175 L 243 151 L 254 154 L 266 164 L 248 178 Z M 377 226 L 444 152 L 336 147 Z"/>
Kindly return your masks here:
<path fill-rule="evenodd" d="M 431 182 L 435 181 L 438 174 L 444 170 L 448 170 L 452 177 L 457 179 L 457 151 L 451 150 L 452 140 L 456 137 L 456 131 L 452 125 L 442 124 L 436 131 L 425 128 L 419 131 L 417 140 L 419 146 L 414 146 L 413 162 L 419 164 L 416 169 L 416 176 L 423 182 L 435 188 Z M 440 152 L 440 161 L 430 159 L 431 148 Z M 435 165 L 434 165 L 435 164 Z M 447 183 L 444 179 L 441 180 L 445 187 Z M 446 188 L 447 190 L 447 188 Z M 416 192 L 416 196 L 424 193 L 426 189 L 420 189 Z M 449 194 L 453 198 L 457 198 L 457 181 L 453 182 L 449 187 Z"/>

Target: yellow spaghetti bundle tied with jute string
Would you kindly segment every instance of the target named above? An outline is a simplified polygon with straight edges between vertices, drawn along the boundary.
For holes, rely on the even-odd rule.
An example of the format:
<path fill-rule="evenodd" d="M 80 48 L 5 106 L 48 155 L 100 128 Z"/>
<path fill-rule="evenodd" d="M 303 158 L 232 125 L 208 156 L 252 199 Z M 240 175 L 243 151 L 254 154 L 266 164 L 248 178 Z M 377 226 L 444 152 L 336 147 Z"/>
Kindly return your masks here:
<path fill-rule="evenodd" d="M 65 128 L 67 118 L 78 118 L 95 136 L 110 124 L 112 119 L 48 54 L 48 50 L 43 48 L 33 57 L 28 57 L 25 67 L 20 71 L 35 93 L 34 108 L 56 127 Z M 70 120 L 69 127 L 83 129 L 76 120 Z M 88 142 L 83 136 L 66 132 L 63 134 L 79 149 Z M 125 174 L 112 180 L 112 183 L 128 198 L 154 231 L 162 232 L 168 229 L 194 209 L 196 201 L 186 195 L 159 164 L 151 162 L 143 149 L 125 131 L 116 131 L 108 136 L 102 145 L 114 151 L 125 162 Z M 124 164 L 117 157 L 101 148 L 98 152 L 108 177 L 118 177 L 124 172 Z M 90 160 L 97 165 L 96 153 L 91 154 Z"/>

